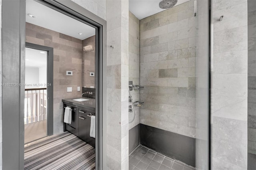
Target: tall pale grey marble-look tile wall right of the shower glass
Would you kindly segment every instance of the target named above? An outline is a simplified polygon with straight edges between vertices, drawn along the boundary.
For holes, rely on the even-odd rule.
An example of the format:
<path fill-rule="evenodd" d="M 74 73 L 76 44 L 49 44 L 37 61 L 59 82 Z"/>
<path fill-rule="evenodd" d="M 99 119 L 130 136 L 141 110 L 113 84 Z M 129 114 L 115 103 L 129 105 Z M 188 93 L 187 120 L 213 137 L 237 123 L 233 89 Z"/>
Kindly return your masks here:
<path fill-rule="evenodd" d="M 212 1 L 212 169 L 247 169 L 247 16 L 247 0 Z"/>

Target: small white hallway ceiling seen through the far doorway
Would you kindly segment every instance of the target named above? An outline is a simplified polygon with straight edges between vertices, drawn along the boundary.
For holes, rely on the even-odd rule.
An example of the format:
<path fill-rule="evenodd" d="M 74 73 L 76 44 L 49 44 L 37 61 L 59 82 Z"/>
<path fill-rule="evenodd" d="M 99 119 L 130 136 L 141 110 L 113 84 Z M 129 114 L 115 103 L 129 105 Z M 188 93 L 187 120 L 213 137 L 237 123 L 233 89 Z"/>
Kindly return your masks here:
<path fill-rule="evenodd" d="M 47 66 L 47 51 L 40 53 L 42 50 L 38 49 L 25 49 L 25 66 L 26 67 L 46 67 Z"/>

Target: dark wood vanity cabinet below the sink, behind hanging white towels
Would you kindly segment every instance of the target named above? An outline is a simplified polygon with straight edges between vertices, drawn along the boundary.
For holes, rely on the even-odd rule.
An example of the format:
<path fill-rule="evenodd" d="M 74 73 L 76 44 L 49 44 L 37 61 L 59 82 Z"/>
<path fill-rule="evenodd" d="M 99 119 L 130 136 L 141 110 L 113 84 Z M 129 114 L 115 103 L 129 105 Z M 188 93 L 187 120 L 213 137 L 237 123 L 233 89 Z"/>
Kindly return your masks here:
<path fill-rule="evenodd" d="M 63 106 L 63 117 L 66 106 L 69 106 L 72 109 L 72 122 L 71 124 L 64 123 L 63 130 L 68 130 L 69 132 L 75 134 L 82 140 L 95 147 L 95 138 L 90 137 L 90 115 L 95 115 L 95 113 L 92 111 L 87 111 L 85 108 L 77 107 L 75 105 L 70 105 L 66 103 L 64 103 Z"/>

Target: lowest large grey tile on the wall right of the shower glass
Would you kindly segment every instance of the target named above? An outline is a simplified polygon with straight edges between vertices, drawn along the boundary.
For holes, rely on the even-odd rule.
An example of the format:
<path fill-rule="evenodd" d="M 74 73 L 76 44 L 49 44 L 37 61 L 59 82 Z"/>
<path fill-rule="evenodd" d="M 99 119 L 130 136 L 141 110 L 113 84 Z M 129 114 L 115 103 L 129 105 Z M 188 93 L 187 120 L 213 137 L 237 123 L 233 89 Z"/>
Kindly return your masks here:
<path fill-rule="evenodd" d="M 247 167 L 247 120 L 214 117 L 212 156 L 230 164 Z M 225 152 L 224 152 L 225 150 Z M 218 166 L 214 164 L 214 167 Z M 234 169 L 234 168 L 231 168 Z"/>

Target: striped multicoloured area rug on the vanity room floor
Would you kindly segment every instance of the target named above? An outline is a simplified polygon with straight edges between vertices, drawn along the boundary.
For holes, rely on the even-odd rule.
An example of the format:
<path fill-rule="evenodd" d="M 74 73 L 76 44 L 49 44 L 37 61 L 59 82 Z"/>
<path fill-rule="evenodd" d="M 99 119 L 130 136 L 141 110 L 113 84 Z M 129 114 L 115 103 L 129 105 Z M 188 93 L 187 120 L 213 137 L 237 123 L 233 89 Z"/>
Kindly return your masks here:
<path fill-rule="evenodd" d="M 24 148 L 25 170 L 94 170 L 95 148 L 64 132 Z"/>

